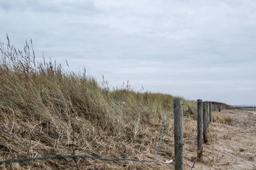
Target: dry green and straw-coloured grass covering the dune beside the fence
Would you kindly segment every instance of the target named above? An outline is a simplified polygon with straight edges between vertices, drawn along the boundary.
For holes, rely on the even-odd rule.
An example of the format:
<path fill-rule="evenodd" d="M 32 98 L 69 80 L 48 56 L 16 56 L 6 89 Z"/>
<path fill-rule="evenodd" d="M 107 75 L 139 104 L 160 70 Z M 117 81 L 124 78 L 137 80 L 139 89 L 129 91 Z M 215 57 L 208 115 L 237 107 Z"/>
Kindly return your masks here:
<path fill-rule="evenodd" d="M 32 44 L 32 42 L 31 42 Z M 23 50 L 0 47 L 0 160 L 86 154 L 105 158 L 152 159 L 175 97 L 109 89 L 84 73 L 63 71 L 56 62 L 35 62 Z M 184 107 L 185 140 L 194 139 L 195 101 Z M 193 120 L 193 122 L 191 122 Z M 196 154 L 196 152 L 195 152 Z M 166 169 L 173 159 L 173 118 L 164 130 L 157 161 L 104 162 L 92 159 L 38 160 L 2 164 L 1 169 Z M 186 157 L 186 155 L 185 155 Z"/>

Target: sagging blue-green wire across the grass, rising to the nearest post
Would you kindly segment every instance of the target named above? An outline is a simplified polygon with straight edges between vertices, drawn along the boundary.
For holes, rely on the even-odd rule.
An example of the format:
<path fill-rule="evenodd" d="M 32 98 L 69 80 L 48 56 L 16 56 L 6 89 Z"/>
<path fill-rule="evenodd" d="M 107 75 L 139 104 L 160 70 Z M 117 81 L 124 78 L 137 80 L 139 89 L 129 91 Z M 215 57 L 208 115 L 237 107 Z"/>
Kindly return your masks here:
<path fill-rule="evenodd" d="M 180 106 L 182 106 L 182 105 L 183 104 L 180 104 Z M 106 159 L 106 158 L 94 157 L 94 156 L 90 156 L 90 155 L 55 155 L 55 156 L 47 156 L 47 157 L 30 157 L 30 158 L 22 158 L 22 159 L 1 160 L 0 165 L 4 164 L 4 163 L 10 164 L 10 163 L 13 163 L 13 162 L 25 162 L 25 161 L 32 161 L 32 160 L 34 161 L 34 160 L 47 160 L 47 159 L 65 159 L 65 158 L 89 158 L 89 159 L 99 159 L 99 160 L 104 160 L 104 161 L 122 161 L 123 160 L 123 161 L 132 161 L 132 162 L 155 162 L 157 153 L 158 153 L 159 148 L 161 146 L 161 143 L 163 141 L 162 137 L 163 137 L 163 131 L 164 131 L 164 127 L 166 125 L 166 122 L 172 116 L 172 113 L 174 113 L 175 110 L 180 108 L 180 106 L 178 106 L 177 108 L 174 108 L 171 111 L 171 113 L 169 114 L 169 116 L 166 118 L 166 120 L 164 121 L 162 131 L 161 131 L 161 134 L 159 136 L 160 141 L 159 141 L 159 144 L 157 145 L 156 152 L 154 154 L 153 160 L 138 160 L 138 159 L 129 159 L 129 158 Z"/>

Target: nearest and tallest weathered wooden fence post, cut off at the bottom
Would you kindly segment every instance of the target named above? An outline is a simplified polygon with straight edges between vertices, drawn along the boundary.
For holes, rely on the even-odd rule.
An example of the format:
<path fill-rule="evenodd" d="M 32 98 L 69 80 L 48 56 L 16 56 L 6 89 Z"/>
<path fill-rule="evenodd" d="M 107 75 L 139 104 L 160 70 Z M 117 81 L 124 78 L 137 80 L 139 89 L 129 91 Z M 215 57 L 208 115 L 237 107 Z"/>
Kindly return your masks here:
<path fill-rule="evenodd" d="M 183 108 L 182 98 L 174 99 L 174 143 L 175 143 L 175 169 L 184 170 L 184 152 L 183 152 Z"/>

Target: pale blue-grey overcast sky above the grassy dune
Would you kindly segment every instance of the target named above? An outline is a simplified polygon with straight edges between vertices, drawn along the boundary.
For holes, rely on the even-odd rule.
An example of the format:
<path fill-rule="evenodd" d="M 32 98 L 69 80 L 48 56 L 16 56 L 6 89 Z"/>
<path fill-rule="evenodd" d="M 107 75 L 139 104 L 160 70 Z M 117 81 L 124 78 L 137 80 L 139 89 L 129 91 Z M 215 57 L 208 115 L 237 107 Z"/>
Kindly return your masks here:
<path fill-rule="evenodd" d="M 113 87 L 256 104 L 255 0 L 0 0 L 6 34 Z"/>

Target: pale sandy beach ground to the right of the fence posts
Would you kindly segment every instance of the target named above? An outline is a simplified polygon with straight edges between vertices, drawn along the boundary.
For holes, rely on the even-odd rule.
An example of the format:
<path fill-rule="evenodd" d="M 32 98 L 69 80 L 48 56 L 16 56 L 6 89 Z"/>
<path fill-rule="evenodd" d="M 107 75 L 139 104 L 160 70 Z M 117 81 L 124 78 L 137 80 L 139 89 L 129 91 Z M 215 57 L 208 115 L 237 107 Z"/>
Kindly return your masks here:
<path fill-rule="evenodd" d="M 209 125 L 208 144 L 193 169 L 256 169 L 256 111 L 225 110 L 233 122 Z"/>

